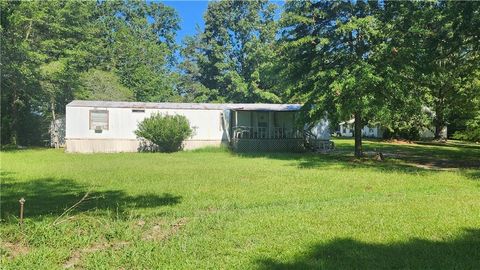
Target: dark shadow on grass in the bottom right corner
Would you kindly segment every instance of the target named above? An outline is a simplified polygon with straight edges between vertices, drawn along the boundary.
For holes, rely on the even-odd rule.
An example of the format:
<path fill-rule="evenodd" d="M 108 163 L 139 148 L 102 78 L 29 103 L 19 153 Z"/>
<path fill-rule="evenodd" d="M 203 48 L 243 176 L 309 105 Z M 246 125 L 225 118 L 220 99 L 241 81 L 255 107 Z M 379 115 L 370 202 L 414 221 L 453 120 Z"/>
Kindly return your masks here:
<path fill-rule="evenodd" d="M 480 269 L 480 230 L 467 229 L 451 241 L 372 244 L 335 239 L 292 261 L 260 259 L 257 265 L 259 269 Z"/>

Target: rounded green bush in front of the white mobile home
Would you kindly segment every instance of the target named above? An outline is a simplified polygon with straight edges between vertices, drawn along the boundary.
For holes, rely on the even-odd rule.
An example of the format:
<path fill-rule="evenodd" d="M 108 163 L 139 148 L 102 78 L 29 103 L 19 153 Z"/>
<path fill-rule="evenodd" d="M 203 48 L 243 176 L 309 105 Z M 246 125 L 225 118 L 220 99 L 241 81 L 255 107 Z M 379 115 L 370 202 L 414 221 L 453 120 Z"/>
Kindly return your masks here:
<path fill-rule="evenodd" d="M 175 152 L 193 134 L 188 119 L 183 115 L 153 114 L 138 124 L 135 134 L 143 139 L 140 151 Z"/>

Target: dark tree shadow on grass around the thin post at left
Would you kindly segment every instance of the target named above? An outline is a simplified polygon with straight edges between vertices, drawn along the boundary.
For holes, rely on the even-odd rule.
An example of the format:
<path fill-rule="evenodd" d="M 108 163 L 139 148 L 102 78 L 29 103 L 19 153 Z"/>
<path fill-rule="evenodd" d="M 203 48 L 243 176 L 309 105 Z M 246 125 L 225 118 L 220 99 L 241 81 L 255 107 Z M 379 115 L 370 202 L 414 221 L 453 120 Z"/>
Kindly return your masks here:
<path fill-rule="evenodd" d="M 59 216 L 66 209 L 88 196 L 73 213 L 89 210 L 112 211 L 123 214 L 133 208 L 151 208 L 180 203 L 181 197 L 172 194 L 143 194 L 131 196 L 121 190 L 89 191 L 69 179 L 42 178 L 28 182 L 16 181 L 2 173 L 1 217 L 18 216 L 19 199 L 25 198 L 25 217 Z"/>

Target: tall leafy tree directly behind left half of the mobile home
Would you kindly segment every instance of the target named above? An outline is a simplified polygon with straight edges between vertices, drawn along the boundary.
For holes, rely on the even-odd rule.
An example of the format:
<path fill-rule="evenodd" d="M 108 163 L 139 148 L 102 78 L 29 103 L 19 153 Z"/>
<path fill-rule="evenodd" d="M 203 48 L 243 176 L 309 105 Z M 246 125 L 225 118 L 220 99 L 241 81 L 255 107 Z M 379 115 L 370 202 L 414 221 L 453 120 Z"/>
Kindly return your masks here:
<path fill-rule="evenodd" d="M 138 101 L 176 99 L 175 10 L 162 3 L 103 1 L 98 13 L 104 44 L 99 66 L 118 74 Z"/>

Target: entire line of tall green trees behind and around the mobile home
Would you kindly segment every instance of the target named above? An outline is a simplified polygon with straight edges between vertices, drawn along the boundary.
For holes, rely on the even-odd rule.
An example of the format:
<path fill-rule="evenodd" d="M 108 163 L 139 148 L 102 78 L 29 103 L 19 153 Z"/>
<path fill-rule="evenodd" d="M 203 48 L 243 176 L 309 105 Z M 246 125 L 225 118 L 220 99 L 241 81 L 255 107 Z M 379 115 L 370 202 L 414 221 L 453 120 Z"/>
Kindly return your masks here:
<path fill-rule="evenodd" d="M 480 140 L 479 2 L 216 1 L 181 44 L 162 3 L 0 3 L 2 145 L 41 143 L 73 99 L 300 102 Z"/>

